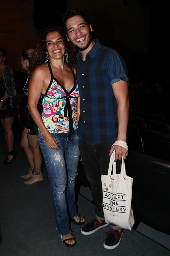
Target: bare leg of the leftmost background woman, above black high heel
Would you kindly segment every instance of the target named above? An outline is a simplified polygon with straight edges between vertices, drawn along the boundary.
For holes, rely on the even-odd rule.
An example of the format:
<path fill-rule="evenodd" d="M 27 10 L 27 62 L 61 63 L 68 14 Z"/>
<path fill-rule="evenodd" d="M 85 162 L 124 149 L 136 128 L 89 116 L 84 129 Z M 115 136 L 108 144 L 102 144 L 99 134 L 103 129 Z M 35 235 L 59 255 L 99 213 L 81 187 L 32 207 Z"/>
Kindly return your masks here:
<path fill-rule="evenodd" d="M 6 142 L 8 147 L 8 152 L 13 150 L 13 131 L 12 131 L 12 123 L 13 123 L 13 117 L 8 117 L 3 119 L 3 128 L 6 135 Z M 12 160 L 13 155 L 9 155 L 8 159 Z"/>

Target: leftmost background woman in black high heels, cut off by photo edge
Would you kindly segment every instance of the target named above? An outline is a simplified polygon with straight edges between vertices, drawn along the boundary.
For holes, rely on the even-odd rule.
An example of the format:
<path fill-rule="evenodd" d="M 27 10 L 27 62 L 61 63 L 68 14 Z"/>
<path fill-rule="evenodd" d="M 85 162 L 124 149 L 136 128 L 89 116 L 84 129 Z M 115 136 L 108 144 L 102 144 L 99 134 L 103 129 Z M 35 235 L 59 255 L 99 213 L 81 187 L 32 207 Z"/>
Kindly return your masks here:
<path fill-rule="evenodd" d="M 17 154 L 13 145 L 12 131 L 15 111 L 11 107 L 11 100 L 16 95 L 16 88 L 13 71 L 6 63 L 6 51 L 4 48 L 0 48 L 0 122 L 4 128 L 5 140 L 8 147 L 8 156 L 3 164 L 11 164 Z"/>

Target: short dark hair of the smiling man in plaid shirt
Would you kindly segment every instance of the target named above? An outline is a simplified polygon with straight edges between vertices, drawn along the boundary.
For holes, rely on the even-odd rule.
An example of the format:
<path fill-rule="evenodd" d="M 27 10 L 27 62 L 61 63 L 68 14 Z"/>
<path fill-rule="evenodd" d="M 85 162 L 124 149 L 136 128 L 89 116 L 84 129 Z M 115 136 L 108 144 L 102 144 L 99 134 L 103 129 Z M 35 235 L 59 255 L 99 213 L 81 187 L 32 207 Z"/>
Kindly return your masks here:
<path fill-rule="evenodd" d="M 64 28 L 66 34 L 67 34 L 66 21 L 69 18 L 72 18 L 74 16 L 81 16 L 85 20 L 85 22 L 87 23 L 88 27 L 90 28 L 89 19 L 83 11 L 80 11 L 78 9 L 69 9 L 65 12 L 65 14 L 62 17 L 63 28 Z"/>

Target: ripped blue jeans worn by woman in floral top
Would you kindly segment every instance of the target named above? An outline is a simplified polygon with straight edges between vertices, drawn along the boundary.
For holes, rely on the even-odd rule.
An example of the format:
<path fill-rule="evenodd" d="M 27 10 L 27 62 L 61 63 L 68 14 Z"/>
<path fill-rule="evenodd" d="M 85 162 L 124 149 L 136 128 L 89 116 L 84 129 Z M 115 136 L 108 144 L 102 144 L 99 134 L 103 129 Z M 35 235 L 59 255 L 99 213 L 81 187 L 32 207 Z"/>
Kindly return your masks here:
<path fill-rule="evenodd" d="M 38 129 L 38 140 L 44 156 L 51 188 L 51 199 L 59 235 L 71 233 L 69 217 L 77 216 L 75 206 L 75 177 L 79 160 L 77 129 L 68 139 L 68 133 L 53 133 L 60 150 L 45 143 Z"/>

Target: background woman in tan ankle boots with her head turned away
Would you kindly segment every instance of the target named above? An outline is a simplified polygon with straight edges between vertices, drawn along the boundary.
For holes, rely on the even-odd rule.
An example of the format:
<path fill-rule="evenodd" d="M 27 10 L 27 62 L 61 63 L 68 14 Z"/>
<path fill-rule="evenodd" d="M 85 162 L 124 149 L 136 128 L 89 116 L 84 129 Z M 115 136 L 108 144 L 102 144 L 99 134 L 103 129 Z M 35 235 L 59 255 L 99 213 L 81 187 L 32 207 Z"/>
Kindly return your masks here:
<path fill-rule="evenodd" d="M 41 171 L 42 155 L 38 143 L 38 127 L 28 111 L 28 87 L 32 71 L 35 68 L 35 50 L 28 49 L 21 54 L 21 67 L 28 74 L 27 81 L 23 88 L 23 131 L 21 134 L 20 146 L 24 149 L 28 159 L 29 168 L 26 175 L 21 178 L 29 179 L 24 183 L 32 185 L 43 181 Z"/>

